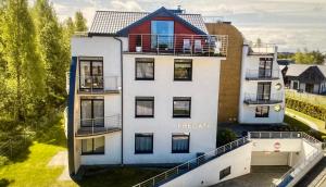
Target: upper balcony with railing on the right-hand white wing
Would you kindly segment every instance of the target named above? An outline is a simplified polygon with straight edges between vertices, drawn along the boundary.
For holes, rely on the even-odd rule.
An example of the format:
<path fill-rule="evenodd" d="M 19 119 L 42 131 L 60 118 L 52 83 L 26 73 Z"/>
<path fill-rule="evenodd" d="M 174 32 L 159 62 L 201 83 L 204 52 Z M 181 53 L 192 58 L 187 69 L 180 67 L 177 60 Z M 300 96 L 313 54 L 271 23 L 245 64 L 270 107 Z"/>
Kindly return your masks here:
<path fill-rule="evenodd" d="M 247 80 L 274 80 L 279 79 L 278 70 L 248 70 L 246 72 Z"/>

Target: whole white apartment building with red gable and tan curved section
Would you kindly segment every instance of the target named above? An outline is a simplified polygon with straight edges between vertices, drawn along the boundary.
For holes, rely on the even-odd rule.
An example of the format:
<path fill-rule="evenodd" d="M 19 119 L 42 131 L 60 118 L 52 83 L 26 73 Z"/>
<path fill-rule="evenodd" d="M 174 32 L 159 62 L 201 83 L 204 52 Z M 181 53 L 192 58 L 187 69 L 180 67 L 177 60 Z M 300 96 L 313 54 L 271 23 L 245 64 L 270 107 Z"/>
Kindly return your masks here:
<path fill-rule="evenodd" d="M 220 123 L 284 117 L 275 46 L 229 23 L 161 8 L 98 11 L 72 39 L 68 161 L 172 165 L 216 148 Z"/>

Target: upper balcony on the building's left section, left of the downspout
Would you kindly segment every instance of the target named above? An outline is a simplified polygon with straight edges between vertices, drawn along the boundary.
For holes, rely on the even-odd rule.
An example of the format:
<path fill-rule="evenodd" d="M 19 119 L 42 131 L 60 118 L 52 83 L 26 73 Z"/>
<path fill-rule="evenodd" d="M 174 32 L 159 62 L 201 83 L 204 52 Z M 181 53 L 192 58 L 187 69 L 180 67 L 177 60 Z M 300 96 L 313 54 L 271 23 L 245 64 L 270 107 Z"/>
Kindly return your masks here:
<path fill-rule="evenodd" d="M 78 76 L 79 95 L 118 94 L 122 89 L 118 76 Z"/>

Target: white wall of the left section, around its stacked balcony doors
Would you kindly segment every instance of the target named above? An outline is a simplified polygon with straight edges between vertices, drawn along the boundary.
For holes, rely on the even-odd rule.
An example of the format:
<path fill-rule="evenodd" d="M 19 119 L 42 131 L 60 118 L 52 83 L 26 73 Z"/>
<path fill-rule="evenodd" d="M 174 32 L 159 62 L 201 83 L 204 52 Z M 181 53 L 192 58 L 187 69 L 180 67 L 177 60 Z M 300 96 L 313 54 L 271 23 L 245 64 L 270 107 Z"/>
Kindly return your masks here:
<path fill-rule="evenodd" d="M 104 88 L 106 88 L 109 76 L 118 77 L 121 82 L 121 48 L 120 42 L 113 37 L 73 37 L 72 38 L 73 57 L 95 57 L 103 58 Z M 79 64 L 79 62 L 77 62 Z M 79 65 L 77 65 L 77 75 L 79 75 Z M 76 78 L 78 87 L 79 78 Z M 121 83 L 117 83 L 121 86 Z M 78 88 L 77 88 L 78 89 Z M 121 94 L 80 96 L 76 92 L 75 98 L 75 133 L 80 127 L 80 99 L 104 99 L 104 117 L 121 114 L 122 96 Z M 108 121 L 108 119 L 105 119 Z M 105 123 L 106 125 L 108 123 Z M 74 134 L 75 134 L 74 133 Z M 88 137 L 89 138 L 89 137 Z M 75 139 L 75 171 L 79 165 L 91 164 L 120 164 L 122 153 L 122 133 L 105 135 L 105 153 L 97 155 L 82 155 L 82 140 Z"/>

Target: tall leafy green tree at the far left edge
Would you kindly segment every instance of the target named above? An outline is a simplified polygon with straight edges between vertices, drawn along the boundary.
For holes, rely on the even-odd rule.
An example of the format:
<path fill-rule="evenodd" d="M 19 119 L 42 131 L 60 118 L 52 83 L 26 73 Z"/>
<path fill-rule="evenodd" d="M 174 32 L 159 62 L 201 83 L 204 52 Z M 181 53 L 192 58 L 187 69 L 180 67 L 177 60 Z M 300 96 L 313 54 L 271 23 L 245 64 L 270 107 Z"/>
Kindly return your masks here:
<path fill-rule="evenodd" d="M 26 0 L 9 0 L 4 13 L 2 39 L 8 86 L 7 110 L 12 119 L 24 122 L 34 115 L 43 96 L 43 64 L 36 47 L 36 33 Z M 3 99 L 3 98 L 2 98 Z"/>

